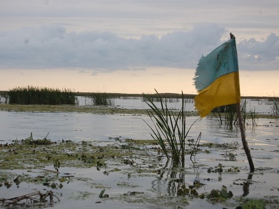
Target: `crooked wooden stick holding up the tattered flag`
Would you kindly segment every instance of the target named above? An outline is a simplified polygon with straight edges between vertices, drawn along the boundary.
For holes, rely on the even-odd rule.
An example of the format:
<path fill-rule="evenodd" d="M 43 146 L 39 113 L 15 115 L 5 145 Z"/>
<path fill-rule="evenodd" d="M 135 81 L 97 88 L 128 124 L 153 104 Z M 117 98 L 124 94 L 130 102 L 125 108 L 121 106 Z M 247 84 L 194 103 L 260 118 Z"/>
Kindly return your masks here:
<path fill-rule="evenodd" d="M 230 33 L 230 38 L 235 39 L 235 37 L 233 36 L 232 33 Z M 248 143 L 247 143 L 246 137 L 245 137 L 245 131 L 244 131 L 244 126 L 243 126 L 242 116 L 241 116 L 241 110 L 240 110 L 240 103 L 236 104 L 236 113 L 237 113 L 237 117 L 238 117 L 238 125 L 239 125 L 239 128 L 240 128 L 241 141 L 242 141 L 243 149 L 245 151 L 245 154 L 246 154 L 248 162 L 249 162 L 250 171 L 254 172 L 255 167 L 254 167 L 254 163 L 253 163 L 251 153 L 250 153 L 250 150 L 249 150 L 249 147 L 248 147 Z"/>

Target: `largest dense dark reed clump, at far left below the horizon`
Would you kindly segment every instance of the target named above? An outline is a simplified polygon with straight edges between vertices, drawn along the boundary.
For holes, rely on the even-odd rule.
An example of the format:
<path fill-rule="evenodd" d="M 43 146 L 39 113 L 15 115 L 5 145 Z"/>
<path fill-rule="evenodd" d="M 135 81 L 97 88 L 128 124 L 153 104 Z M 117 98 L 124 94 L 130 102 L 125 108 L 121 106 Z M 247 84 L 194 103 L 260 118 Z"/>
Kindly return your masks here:
<path fill-rule="evenodd" d="M 9 103 L 20 105 L 75 105 L 75 93 L 71 89 L 59 90 L 47 87 L 15 87 L 8 92 Z"/>

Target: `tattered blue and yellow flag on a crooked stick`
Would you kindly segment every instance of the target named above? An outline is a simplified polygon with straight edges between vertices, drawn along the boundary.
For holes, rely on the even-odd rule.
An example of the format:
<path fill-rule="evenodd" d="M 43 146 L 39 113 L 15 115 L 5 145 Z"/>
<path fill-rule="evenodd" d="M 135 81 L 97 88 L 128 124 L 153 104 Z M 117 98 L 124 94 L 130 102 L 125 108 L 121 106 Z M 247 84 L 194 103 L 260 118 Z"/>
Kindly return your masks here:
<path fill-rule="evenodd" d="M 240 102 L 235 38 L 201 57 L 194 81 L 198 91 L 195 109 L 201 117 L 214 108 Z"/>

